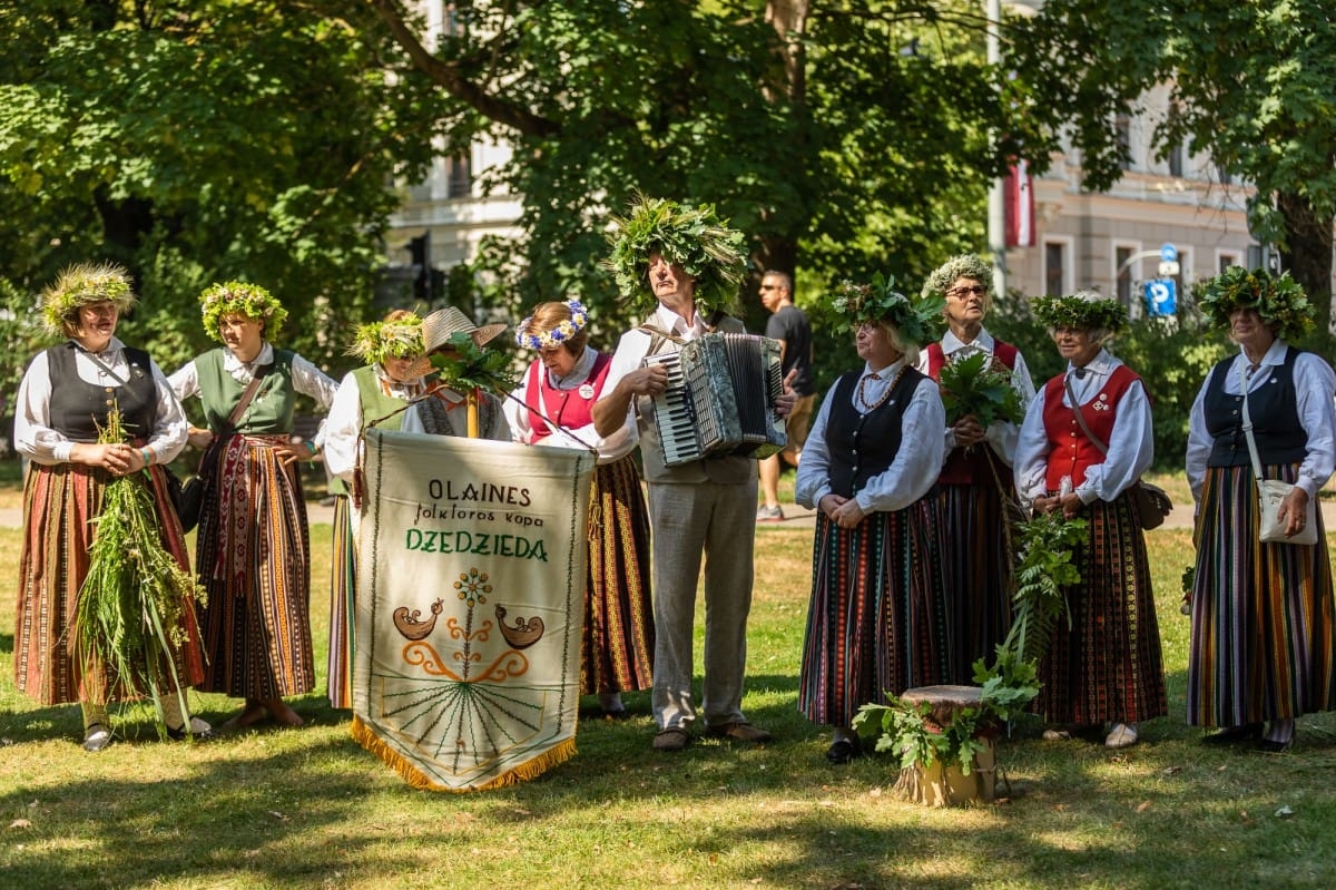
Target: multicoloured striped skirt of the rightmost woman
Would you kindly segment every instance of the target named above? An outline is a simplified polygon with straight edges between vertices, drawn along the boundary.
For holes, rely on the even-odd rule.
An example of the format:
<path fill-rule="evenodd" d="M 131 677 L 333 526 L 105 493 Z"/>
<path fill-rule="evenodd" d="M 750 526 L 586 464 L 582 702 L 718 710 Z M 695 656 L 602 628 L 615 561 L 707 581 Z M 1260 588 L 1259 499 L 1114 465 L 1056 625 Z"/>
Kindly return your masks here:
<path fill-rule="evenodd" d="M 1268 478 L 1295 481 L 1293 464 Z M 1263 544 L 1250 466 L 1206 470 L 1188 655 L 1188 723 L 1240 726 L 1336 710 L 1332 575 L 1317 544 Z"/>

